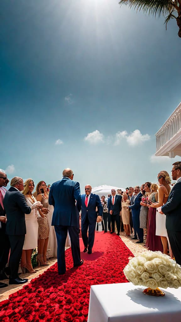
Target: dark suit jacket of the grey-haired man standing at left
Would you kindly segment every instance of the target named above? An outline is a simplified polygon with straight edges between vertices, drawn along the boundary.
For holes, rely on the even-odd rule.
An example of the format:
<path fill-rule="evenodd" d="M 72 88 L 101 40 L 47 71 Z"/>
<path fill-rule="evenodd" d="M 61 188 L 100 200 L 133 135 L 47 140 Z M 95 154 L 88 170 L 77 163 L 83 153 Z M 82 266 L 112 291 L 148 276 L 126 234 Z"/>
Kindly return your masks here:
<path fill-rule="evenodd" d="M 26 203 L 24 194 L 11 187 L 5 194 L 3 200 L 7 216 L 6 234 L 24 235 L 26 233 L 25 213 L 31 213 L 31 207 Z"/>

